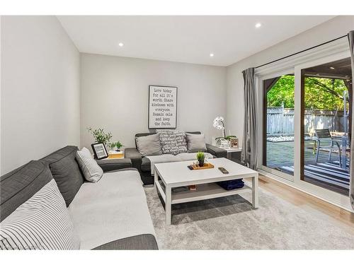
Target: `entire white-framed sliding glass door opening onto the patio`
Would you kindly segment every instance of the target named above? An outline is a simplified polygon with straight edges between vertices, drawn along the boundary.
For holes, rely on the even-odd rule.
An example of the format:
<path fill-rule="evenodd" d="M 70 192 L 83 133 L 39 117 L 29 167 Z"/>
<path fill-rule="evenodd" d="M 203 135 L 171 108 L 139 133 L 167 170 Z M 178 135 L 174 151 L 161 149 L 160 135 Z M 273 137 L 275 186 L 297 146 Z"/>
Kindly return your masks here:
<path fill-rule="evenodd" d="M 261 172 L 350 208 L 353 76 L 347 45 L 260 67 L 256 81 Z"/>

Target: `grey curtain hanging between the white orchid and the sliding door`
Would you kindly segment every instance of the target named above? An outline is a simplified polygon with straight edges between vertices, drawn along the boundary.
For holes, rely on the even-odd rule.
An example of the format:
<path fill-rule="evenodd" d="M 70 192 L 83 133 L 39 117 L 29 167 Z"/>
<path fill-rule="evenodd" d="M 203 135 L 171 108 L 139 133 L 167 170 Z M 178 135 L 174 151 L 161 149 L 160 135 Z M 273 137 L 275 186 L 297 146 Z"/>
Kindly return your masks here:
<path fill-rule="evenodd" d="M 256 135 L 256 87 L 254 84 L 254 68 L 246 69 L 244 75 L 244 137 L 242 141 L 241 160 L 256 170 L 257 167 L 257 135 Z"/>

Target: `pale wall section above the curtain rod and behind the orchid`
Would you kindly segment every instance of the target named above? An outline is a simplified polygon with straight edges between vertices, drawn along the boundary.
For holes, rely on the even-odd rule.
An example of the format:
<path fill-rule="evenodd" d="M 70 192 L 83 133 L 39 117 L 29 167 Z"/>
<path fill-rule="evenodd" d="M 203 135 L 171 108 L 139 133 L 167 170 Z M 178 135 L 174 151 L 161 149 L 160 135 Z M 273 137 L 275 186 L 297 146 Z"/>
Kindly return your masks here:
<path fill-rule="evenodd" d="M 227 67 L 227 126 L 232 134 L 239 136 L 240 144 L 244 124 L 244 79 L 241 71 L 341 37 L 353 28 L 354 16 L 338 16 Z"/>

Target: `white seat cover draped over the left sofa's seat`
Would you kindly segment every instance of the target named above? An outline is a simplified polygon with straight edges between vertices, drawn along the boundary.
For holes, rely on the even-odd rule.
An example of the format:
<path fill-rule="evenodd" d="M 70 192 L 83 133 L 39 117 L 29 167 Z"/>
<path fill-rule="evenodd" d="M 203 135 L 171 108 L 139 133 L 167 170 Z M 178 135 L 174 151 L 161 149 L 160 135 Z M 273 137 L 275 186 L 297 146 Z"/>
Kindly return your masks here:
<path fill-rule="evenodd" d="M 155 235 L 139 172 L 104 173 L 97 183 L 85 182 L 69 206 L 80 249 L 135 235 Z"/>

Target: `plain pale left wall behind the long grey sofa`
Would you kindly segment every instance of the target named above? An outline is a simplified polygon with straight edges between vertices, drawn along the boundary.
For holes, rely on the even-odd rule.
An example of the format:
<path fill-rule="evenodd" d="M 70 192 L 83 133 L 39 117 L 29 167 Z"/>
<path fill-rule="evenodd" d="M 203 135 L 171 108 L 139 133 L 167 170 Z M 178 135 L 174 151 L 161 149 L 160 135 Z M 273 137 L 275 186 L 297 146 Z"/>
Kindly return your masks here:
<path fill-rule="evenodd" d="M 1 175 L 80 144 L 79 63 L 55 16 L 1 17 Z"/>

